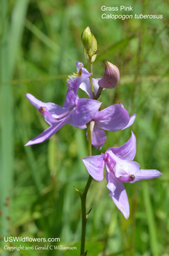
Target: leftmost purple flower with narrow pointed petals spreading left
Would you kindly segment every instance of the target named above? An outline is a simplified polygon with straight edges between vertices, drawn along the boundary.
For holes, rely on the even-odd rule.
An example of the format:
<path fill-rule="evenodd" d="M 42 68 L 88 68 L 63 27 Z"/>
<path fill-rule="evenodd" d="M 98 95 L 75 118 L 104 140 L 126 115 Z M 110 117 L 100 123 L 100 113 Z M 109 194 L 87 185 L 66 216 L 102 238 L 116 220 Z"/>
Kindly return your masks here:
<path fill-rule="evenodd" d="M 59 131 L 64 124 L 70 124 L 84 129 L 85 124 L 90 122 L 93 116 L 101 106 L 101 102 L 92 99 L 79 99 L 70 88 L 66 94 L 63 106 L 52 102 L 41 102 L 33 95 L 26 93 L 27 99 L 44 116 L 45 121 L 50 125 L 45 131 L 33 140 L 27 142 L 27 145 L 33 145 L 48 140 L 55 132 Z"/>

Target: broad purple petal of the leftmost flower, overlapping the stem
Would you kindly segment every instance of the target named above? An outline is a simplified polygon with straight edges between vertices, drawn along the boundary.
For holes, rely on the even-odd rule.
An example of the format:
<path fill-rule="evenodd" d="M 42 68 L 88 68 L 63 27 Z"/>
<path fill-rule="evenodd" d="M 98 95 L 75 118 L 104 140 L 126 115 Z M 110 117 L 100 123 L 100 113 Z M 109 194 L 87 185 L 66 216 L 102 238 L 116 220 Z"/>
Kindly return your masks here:
<path fill-rule="evenodd" d="M 75 112 L 72 115 L 74 125 L 89 123 L 101 106 L 101 102 L 91 99 L 78 99 Z"/>

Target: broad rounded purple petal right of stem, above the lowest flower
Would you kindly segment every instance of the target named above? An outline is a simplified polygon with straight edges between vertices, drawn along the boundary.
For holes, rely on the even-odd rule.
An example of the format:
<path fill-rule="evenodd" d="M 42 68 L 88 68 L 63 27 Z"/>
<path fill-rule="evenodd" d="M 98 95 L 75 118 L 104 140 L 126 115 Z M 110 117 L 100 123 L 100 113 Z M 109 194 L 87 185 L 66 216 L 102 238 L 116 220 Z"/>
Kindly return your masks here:
<path fill-rule="evenodd" d="M 129 114 L 122 104 L 114 104 L 99 111 L 96 116 L 94 116 L 94 120 L 101 129 L 118 131 L 128 124 Z"/>

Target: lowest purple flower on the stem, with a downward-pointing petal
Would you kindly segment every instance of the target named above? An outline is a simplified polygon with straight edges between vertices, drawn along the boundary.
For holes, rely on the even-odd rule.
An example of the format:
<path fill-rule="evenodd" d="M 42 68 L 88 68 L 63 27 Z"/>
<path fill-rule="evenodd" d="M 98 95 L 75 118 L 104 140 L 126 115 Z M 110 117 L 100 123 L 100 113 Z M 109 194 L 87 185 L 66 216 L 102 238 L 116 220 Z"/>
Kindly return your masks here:
<path fill-rule="evenodd" d="M 82 159 L 89 174 L 95 180 L 103 180 L 103 170 L 106 166 L 109 196 L 112 197 L 115 205 L 127 220 L 129 218 L 129 202 L 122 182 L 134 183 L 139 180 L 158 178 L 162 175 L 158 170 L 139 169 L 140 165 L 133 161 L 136 154 L 136 138 L 135 134 L 131 133 L 131 138 L 121 147 L 112 147 L 105 154 L 101 153 L 99 156 Z"/>

